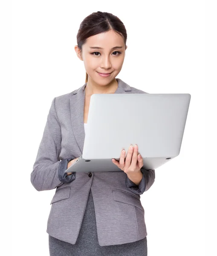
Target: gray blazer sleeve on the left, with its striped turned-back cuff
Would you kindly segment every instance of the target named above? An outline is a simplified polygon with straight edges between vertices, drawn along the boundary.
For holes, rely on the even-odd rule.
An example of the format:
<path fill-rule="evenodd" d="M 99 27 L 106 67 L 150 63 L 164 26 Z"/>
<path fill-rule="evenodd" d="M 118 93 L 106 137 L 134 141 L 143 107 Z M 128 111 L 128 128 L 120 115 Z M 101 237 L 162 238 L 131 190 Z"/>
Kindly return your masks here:
<path fill-rule="evenodd" d="M 38 148 L 33 170 L 31 172 L 31 183 L 38 191 L 55 189 L 57 186 L 75 179 L 75 173 L 64 174 L 69 159 L 61 160 L 61 126 L 55 110 L 55 98 L 47 116 L 41 143 Z M 67 165 L 66 165 L 67 163 Z M 69 177 L 67 177 L 69 176 Z"/>

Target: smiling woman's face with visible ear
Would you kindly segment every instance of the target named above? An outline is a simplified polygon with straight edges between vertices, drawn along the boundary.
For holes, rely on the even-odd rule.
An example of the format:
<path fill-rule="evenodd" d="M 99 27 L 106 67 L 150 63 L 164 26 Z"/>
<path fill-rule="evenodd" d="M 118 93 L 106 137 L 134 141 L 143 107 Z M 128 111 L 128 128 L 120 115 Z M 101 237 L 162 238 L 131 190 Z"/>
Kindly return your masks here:
<path fill-rule="evenodd" d="M 108 84 L 122 69 L 125 55 L 124 39 L 110 30 L 87 38 L 86 43 L 82 46 L 82 52 L 78 46 L 75 46 L 75 51 L 78 58 L 84 61 L 84 67 L 89 76 L 88 80 L 91 79 L 97 84 Z M 103 77 L 99 73 L 111 74 Z"/>

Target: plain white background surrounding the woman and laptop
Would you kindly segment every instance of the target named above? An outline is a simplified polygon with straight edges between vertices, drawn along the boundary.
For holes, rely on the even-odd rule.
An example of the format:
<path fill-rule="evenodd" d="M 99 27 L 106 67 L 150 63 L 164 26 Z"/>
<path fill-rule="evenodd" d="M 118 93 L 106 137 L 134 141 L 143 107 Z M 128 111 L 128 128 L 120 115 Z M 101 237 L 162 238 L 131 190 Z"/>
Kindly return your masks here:
<path fill-rule="evenodd" d="M 148 93 L 191 94 L 180 154 L 156 169 L 153 186 L 141 196 L 148 256 L 216 255 L 216 220 L 211 220 L 216 146 L 208 152 L 214 137 L 205 137 L 205 129 L 207 136 L 214 131 L 207 118 L 216 119 L 216 112 L 211 113 L 216 101 L 211 77 L 217 71 L 215 7 L 208 2 L 205 7 L 202 0 L 20 0 L 10 8 L 12 20 L 1 11 L 2 21 L 8 20 L 2 24 L 9 31 L 12 25 L 12 147 L 2 170 L 5 202 L 7 191 L 12 192 L 12 215 L 3 223 L 7 250 L 12 255 L 49 255 L 46 224 L 55 190 L 36 191 L 30 173 L 52 99 L 85 83 L 84 62 L 74 50 L 79 25 L 87 15 L 102 11 L 118 16 L 127 29 L 128 48 L 117 78 Z M 4 41 L 4 46 L 11 45 Z M 6 80 L 7 64 L 2 65 Z M 12 166 L 15 175 L 9 171 Z"/>

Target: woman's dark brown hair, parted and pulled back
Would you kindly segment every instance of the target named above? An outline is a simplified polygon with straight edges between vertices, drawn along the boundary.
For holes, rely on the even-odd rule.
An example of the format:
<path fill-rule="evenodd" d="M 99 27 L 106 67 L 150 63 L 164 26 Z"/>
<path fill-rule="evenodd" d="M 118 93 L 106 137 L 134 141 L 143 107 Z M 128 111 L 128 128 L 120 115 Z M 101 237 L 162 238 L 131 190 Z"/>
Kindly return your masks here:
<path fill-rule="evenodd" d="M 82 22 L 77 34 L 78 48 L 81 50 L 83 44 L 86 43 L 87 38 L 103 32 L 113 30 L 124 38 L 126 48 L 127 31 L 123 22 L 115 15 L 109 12 L 93 12 L 88 15 Z M 88 74 L 86 72 L 85 83 L 87 83 Z"/>

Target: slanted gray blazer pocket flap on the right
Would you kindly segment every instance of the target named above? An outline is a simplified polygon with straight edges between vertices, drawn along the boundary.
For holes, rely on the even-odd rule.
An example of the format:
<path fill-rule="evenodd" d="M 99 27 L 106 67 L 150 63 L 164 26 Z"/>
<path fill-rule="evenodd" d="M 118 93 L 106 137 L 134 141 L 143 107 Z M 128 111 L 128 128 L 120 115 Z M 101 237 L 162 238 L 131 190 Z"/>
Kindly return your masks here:
<path fill-rule="evenodd" d="M 136 207 L 139 207 L 141 210 L 143 210 L 141 201 L 139 198 L 137 198 L 136 195 L 133 195 L 130 192 L 124 191 L 122 189 L 112 189 L 113 193 L 113 199 L 115 201 L 119 201 L 126 204 L 132 204 Z"/>

